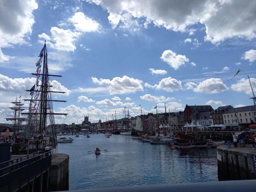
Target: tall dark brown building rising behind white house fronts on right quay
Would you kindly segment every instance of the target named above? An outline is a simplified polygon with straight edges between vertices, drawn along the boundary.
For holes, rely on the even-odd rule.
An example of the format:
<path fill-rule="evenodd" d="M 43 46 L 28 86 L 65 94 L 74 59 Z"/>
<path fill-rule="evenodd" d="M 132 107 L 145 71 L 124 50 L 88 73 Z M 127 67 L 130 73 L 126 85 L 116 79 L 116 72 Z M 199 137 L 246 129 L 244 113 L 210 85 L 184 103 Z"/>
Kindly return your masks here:
<path fill-rule="evenodd" d="M 184 120 L 185 123 L 191 123 L 191 115 L 194 113 L 211 112 L 214 111 L 211 105 L 187 105 L 184 109 Z"/>

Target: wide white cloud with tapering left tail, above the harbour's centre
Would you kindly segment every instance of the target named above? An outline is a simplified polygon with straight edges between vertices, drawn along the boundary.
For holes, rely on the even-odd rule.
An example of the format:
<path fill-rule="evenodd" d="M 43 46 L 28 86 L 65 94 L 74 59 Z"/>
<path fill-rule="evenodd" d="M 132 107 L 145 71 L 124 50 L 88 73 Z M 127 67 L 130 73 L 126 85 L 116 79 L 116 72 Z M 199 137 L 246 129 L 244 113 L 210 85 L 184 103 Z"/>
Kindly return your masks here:
<path fill-rule="evenodd" d="M 111 95 L 143 91 L 142 80 L 126 75 L 123 77 L 114 77 L 113 79 L 97 79 L 96 77 L 92 77 L 92 80 L 94 83 L 106 87 Z"/>

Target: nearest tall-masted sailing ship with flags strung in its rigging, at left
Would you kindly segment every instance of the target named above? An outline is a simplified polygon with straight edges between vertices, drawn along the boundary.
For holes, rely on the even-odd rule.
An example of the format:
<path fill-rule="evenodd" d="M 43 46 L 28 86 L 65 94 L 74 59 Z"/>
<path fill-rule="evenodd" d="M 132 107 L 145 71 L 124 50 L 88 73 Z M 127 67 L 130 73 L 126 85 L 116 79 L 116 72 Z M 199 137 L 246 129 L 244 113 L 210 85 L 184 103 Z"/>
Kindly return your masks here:
<path fill-rule="evenodd" d="M 27 116 L 24 131 L 17 133 L 17 137 L 22 138 L 22 140 L 20 142 L 15 141 L 13 144 L 14 147 L 12 147 L 12 151 L 16 153 L 20 151 L 30 153 L 38 150 L 38 148 L 44 149 L 46 146 L 50 150 L 57 148 L 54 116 L 68 115 L 67 113 L 54 113 L 53 110 L 53 102 L 66 101 L 52 99 L 52 94 L 65 92 L 51 90 L 52 84 L 50 78 L 61 77 L 61 75 L 49 74 L 46 42 L 38 57 L 39 59 L 35 63 L 37 67 L 36 72 L 32 73 L 36 77 L 35 84 L 30 90 L 26 90 L 30 92 L 31 97 L 24 99 L 29 104 L 28 109 L 24 111 L 24 109 L 20 108 L 20 101 L 16 102 L 17 110 L 24 111 L 20 112 L 20 114 Z"/>

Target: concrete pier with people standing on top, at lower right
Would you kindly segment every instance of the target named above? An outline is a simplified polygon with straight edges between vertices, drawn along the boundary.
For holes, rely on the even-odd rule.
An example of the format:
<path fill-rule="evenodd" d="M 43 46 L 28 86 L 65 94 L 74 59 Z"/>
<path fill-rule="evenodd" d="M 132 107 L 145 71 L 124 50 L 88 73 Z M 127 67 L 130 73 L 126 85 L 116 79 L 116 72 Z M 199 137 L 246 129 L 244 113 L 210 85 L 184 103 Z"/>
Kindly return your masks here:
<path fill-rule="evenodd" d="M 218 179 L 256 179 L 256 149 L 249 147 L 217 147 Z"/>

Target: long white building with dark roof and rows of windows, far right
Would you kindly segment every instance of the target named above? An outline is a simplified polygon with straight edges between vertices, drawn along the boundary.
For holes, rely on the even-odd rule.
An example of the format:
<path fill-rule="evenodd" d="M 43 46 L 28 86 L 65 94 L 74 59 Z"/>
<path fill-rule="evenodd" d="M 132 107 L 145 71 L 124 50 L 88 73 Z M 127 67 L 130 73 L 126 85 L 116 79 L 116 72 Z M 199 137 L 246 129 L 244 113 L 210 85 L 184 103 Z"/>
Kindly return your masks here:
<path fill-rule="evenodd" d="M 256 122 L 254 105 L 242 106 L 241 108 L 230 108 L 222 114 L 224 124 L 227 129 L 248 127 Z"/>

